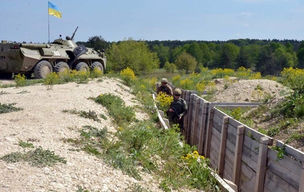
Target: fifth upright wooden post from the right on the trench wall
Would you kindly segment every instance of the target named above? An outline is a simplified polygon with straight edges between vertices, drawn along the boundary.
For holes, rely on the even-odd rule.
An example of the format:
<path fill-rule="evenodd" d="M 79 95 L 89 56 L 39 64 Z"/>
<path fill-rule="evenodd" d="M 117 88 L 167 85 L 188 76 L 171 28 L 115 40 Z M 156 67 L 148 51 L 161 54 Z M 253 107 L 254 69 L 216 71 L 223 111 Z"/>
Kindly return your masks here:
<path fill-rule="evenodd" d="M 198 153 L 204 154 L 204 142 L 205 142 L 205 131 L 207 127 L 207 102 L 205 100 L 201 99 L 200 101 L 200 108 L 202 109 L 202 120 L 201 120 L 201 127 L 200 127 L 200 133 L 199 133 L 199 142 L 198 142 Z"/>

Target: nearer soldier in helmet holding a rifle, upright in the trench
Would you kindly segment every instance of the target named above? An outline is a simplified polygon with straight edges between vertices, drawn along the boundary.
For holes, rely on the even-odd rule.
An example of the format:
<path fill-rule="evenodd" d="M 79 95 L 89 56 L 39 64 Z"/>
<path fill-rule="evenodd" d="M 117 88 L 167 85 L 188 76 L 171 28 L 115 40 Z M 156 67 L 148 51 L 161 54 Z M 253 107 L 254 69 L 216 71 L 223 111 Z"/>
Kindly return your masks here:
<path fill-rule="evenodd" d="M 188 112 L 188 106 L 186 102 L 180 98 L 181 90 L 176 88 L 173 91 L 173 101 L 171 102 L 170 108 L 168 109 L 168 120 L 170 123 L 170 127 L 173 124 L 178 124 L 180 132 L 183 131 L 183 117 Z"/>

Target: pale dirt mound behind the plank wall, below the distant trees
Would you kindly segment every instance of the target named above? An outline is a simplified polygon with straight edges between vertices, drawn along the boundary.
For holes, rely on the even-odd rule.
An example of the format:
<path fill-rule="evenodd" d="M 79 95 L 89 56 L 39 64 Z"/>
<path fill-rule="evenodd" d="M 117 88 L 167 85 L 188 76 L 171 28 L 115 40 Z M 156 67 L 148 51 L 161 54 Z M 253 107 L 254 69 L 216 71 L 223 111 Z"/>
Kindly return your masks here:
<path fill-rule="evenodd" d="M 290 89 L 282 84 L 267 80 L 240 80 L 233 83 L 216 79 L 216 93 L 212 102 L 261 102 L 265 97 L 283 97 L 290 92 Z"/>

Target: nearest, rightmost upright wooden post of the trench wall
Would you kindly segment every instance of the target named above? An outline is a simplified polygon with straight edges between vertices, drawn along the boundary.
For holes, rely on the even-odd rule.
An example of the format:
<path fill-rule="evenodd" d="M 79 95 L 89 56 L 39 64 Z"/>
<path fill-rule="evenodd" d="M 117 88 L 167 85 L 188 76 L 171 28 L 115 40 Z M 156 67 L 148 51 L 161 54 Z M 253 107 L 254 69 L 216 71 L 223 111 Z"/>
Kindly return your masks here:
<path fill-rule="evenodd" d="M 261 138 L 260 148 L 259 148 L 259 159 L 258 159 L 258 166 L 257 166 L 255 192 L 263 192 L 263 189 L 264 189 L 264 179 L 265 179 L 265 171 L 266 171 L 268 143 L 269 143 L 269 138 L 268 137 L 262 137 Z"/>

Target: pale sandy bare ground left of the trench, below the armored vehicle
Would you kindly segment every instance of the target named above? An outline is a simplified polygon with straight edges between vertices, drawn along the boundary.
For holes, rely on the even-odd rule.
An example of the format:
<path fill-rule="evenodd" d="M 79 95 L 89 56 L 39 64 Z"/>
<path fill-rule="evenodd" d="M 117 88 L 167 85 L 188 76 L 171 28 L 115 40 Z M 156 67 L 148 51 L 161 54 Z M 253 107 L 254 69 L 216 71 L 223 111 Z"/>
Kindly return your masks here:
<path fill-rule="evenodd" d="M 4 81 L 4 83 L 11 83 Z M 0 157 L 12 152 L 23 152 L 20 140 L 30 141 L 34 146 L 50 150 L 67 160 L 53 167 L 35 168 L 28 163 L 6 163 L 0 161 L 1 192 L 76 192 L 78 186 L 100 192 L 122 192 L 138 183 L 151 190 L 161 192 L 158 182 L 151 175 L 142 173 L 138 181 L 105 164 L 102 159 L 75 151 L 64 139 L 79 138 L 82 126 L 107 128 L 116 132 L 107 110 L 89 97 L 111 93 L 120 96 L 127 106 L 140 105 L 130 88 L 115 79 L 103 78 L 88 84 L 68 83 L 54 85 L 47 90 L 44 85 L 0 88 L 0 103 L 16 103 L 23 110 L 0 114 Z M 62 110 L 95 111 L 107 116 L 101 122 L 82 118 Z M 136 112 L 137 119 L 145 120 L 148 115 Z"/>

